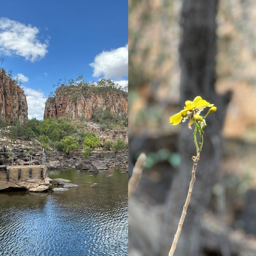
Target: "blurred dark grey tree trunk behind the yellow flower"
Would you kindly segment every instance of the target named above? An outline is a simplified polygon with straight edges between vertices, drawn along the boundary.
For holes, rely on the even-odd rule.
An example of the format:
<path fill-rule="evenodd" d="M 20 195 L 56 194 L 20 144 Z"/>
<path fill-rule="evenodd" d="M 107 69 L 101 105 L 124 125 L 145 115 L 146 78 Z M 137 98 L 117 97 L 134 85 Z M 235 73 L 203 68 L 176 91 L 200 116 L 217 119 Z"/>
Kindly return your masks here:
<path fill-rule="evenodd" d="M 178 240 L 175 256 L 200 255 L 200 223 L 214 184 L 215 172 L 222 153 L 221 129 L 229 102 L 230 93 L 220 96 L 214 90 L 216 80 L 216 13 L 217 0 L 184 0 L 180 18 L 180 99 L 182 106 L 186 100 L 196 96 L 217 106 L 217 112 L 209 114 L 204 129 L 204 145 L 196 171 L 196 181 L 192 191 L 182 232 Z M 175 174 L 166 201 L 163 235 L 160 237 L 159 255 L 168 255 L 176 232 L 182 208 L 188 193 L 193 162 L 196 155 L 193 135 L 186 124 L 180 124 L 179 152 L 182 162 Z"/>

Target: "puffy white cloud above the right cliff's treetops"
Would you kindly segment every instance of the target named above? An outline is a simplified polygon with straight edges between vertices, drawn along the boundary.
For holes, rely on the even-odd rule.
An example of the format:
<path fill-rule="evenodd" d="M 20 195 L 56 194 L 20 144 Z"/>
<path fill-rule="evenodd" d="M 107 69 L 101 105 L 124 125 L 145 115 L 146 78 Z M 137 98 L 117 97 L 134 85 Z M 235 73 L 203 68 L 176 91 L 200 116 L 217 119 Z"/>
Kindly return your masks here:
<path fill-rule="evenodd" d="M 128 76 L 128 44 L 110 51 L 103 51 L 96 55 L 94 62 L 90 63 L 94 77 L 121 80 Z"/>

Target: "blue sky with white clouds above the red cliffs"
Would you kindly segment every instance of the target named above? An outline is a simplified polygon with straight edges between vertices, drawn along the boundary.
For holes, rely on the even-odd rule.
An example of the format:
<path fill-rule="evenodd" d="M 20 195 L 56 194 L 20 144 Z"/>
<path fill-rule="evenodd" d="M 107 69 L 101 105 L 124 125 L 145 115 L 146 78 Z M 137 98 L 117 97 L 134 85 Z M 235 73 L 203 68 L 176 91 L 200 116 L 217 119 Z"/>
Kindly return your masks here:
<path fill-rule="evenodd" d="M 23 80 L 29 118 L 42 118 L 44 95 L 60 78 L 126 84 L 127 44 L 128 1 L 1 2 L 0 58 Z"/>

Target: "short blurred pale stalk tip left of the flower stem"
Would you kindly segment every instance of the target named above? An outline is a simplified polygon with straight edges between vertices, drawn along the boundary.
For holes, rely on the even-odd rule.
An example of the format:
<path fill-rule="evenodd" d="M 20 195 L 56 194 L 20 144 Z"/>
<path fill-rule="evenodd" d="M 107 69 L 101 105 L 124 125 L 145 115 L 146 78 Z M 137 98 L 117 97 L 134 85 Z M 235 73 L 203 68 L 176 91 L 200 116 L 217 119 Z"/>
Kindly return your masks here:
<path fill-rule="evenodd" d="M 141 153 L 132 170 L 132 177 L 128 182 L 128 200 L 133 195 L 134 191 L 136 190 L 140 182 L 140 178 L 141 178 L 145 163 L 146 163 L 146 154 Z"/>

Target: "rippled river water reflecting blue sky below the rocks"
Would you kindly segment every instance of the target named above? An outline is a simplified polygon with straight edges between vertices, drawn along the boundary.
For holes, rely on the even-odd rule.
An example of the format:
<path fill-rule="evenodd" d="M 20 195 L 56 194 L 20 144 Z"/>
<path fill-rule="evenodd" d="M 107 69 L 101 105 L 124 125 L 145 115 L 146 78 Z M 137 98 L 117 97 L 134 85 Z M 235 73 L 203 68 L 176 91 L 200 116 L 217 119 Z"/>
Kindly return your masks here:
<path fill-rule="evenodd" d="M 50 171 L 50 178 L 79 187 L 0 193 L 0 256 L 127 256 L 128 175 L 122 171 Z"/>

